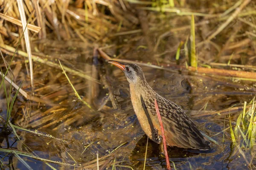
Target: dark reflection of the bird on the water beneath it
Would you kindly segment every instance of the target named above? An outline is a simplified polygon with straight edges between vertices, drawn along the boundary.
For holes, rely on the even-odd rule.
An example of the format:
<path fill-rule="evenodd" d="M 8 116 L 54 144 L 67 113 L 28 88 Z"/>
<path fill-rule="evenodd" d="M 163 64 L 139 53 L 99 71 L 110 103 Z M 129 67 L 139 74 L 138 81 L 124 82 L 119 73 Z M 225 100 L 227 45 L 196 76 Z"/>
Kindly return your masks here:
<path fill-rule="evenodd" d="M 145 161 L 145 151 L 147 144 L 147 136 L 144 135 L 134 147 L 134 150 L 131 153 L 130 160 L 136 166 L 143 167 Z M 200 166 L 199 161 L 207 160 L 209 161 L 209 157 L 213 154 L 217 154 L 217 147 L 212 146 L 209 150 L 193 150 L 193 149 L 185 149 L 180 147 L 167 147 L 169 160 L 171 162 L 171 166 L 175 164 L 175 166 L 183 169 L 189 168 L 188 166 L 197 167 Z M 160 145 L 148 139 L 148 148 L 147 148 L 147 159 L 146 162 L 148 166 L 155 167 L 166 166 L 166 159 L 160 156 Z M 191 162 L 191 163 L 190 163 Z M 202 165 L 204 167 L 204 165 Z M 173 167 L 172 167 L 173 168 Z M 190 169 L 190 168 L 189 168 Z"/>

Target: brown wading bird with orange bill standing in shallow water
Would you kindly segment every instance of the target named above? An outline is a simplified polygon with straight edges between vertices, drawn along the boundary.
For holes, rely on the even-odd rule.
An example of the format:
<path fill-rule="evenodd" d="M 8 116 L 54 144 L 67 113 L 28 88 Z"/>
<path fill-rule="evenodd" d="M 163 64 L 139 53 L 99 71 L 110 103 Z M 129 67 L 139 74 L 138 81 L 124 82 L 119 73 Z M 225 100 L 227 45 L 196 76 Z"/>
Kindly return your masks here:
<path fill-rule="evenodd" d="M 157 94 L 146 82 L 142 69 L 136 64 L 126 64 L 109 60 L 124 71 L 129 82 L 131 102 L 146 135 L 152 141 L 160 143 L 160 124 L 154 106 L 159 105 L 166 142 L 169 146 L 192 149 L 210 149 L 204 137 L 191 119 L 174 102 Z"/>

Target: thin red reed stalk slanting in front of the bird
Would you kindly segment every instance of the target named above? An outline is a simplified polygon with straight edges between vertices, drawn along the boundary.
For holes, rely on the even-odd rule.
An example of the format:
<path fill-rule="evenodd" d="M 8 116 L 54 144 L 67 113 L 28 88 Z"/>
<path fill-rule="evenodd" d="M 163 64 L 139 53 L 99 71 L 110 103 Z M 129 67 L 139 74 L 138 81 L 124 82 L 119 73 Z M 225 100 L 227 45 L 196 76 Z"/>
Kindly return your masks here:
<path fill-rule="evenodd" d="M 162 133 L 162 138 L 163 138 L 163 148 L 164 148 L 164 154 L 165 154 L 165 157 L 166 157 L 167 169 L 171 170 L 171 165 L 170 165 L 169 156 L 168 156 L 168 152 L 167 152 L 167 146 L 166 146 L 166 138 L 165 138 L 165 135 L 164 135 L 163 122 L 162 122 L 162 119 L 161 119 L 161 115 L 160 115 L 160 112 L 159 112 L 159 108 L 158 108 L 158 104 L 157 104 L 156 99 L 154 100 L 154 103 L 155 103 L 155 108 L 156 108 L 156 112 L 157 112 L 157 117 L 158 117 L 160 127 L 161 127 L 161 133 Z"/>

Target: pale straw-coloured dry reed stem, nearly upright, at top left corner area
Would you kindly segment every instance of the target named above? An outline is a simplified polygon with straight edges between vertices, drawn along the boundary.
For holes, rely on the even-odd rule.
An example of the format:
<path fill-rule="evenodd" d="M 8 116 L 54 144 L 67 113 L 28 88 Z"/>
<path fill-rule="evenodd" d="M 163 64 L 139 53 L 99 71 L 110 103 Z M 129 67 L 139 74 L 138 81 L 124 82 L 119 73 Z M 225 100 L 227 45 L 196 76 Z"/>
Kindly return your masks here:
<path fill-rule="evenodd" d="M 34 71 L 33 71 L 33 62 L 32 62 L 32 53 L 30 48 L 30 41 L 29 41 L 29 31 L 26 29 L 27 21 L 26 21 L 26 14 L 23 7 L 23 0 L 17 0 L 21 23 L 24 31 L 24 38 L 26 42 L 26 50 L 29 58 L 29 71 L 30 71 L 30 82 L 32 88 L 32 95 L 35 95 L 35 85 L 34 85 Z M 22 37 L 21 37 L 22 38 Z"/>

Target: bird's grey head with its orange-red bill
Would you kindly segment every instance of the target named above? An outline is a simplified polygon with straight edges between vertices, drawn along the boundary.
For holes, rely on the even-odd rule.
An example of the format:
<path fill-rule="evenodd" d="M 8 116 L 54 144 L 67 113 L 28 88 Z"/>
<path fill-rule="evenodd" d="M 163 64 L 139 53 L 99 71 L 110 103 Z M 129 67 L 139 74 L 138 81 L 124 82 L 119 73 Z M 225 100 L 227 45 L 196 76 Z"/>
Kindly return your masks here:
<path fill-rule="evenodd" d="M 109 60 L 109 63 L 116 65 L 124 71 L 125 76 L 130 84 L 144 84 L 146 82 L 144 73 L 142 69 L 136 64 L 126 64 L 122 62 L 117 62 L 114 60 Z"/>

